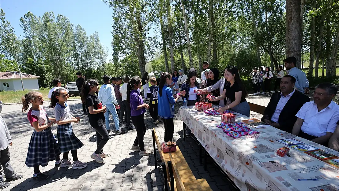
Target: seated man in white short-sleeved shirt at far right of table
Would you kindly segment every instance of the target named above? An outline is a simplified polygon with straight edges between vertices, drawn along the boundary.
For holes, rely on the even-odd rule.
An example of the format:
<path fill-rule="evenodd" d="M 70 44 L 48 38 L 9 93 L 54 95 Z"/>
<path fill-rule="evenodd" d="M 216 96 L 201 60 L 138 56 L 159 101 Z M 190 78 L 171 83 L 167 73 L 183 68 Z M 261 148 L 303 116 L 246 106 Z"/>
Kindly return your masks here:
<path fill-rule="evenodd" d="M 339 120 L 339 106 L 332 101 L 337 92 L 333 83 L 317 85 L 314 101 L 306 102 L 297 113 L 292 134 L 327 146 Z"/>

